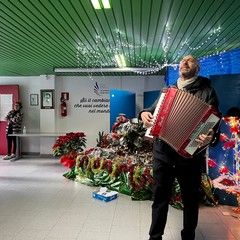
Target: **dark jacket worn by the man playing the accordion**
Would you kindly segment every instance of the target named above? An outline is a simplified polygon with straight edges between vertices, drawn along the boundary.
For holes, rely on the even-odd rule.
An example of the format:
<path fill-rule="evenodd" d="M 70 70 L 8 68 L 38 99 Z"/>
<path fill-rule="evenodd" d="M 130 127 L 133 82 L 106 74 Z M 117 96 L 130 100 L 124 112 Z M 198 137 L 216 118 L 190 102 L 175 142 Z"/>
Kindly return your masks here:
<path fill-rule="evenodd" d="M 174 86 L 177 87 L 177 83 L 175 83 Z M 199 97 L 206 103 L 218 108 L 218 105 L 219 105 L 218 97 L 216 95 L 215 90 L 211 87 L 210 79 L 199 76 L 197 77 L 196 81 L 186 86 L 185 90 Z M 141 113 L 145 111 L 151 112 L 153 114 L 156 108 L 157 102 L 158 102 L 158 99 L 154 102 L 154 104 L 151 107 L 142 110 L 139 114 L 139 118 L 141 119 Z M 219 134 L 220 134 L 219 124 L 215 126 L 213 130 L 215 134 L 213 137 L 213 141 L 210 144 L 211 146 L 217 145 L 219 141 Z M 205 158 L 206 150 L 203 150 L 203 151 L 200 151 L 200 150 L 195 153 L 193 158 L 201 158 L 201 159 Z M 156 139 L 153 142 L 153 156 L 154 158 L 157 158 L 159 160 L 162 160 L 168 163 L 173 163 L 175 158 L 183 158 L 179 154 L 177 154 L 177 152 L 174 149 L 172 149 L 168 144 L 166 144 L 165 142 L 159 139 Z"/>

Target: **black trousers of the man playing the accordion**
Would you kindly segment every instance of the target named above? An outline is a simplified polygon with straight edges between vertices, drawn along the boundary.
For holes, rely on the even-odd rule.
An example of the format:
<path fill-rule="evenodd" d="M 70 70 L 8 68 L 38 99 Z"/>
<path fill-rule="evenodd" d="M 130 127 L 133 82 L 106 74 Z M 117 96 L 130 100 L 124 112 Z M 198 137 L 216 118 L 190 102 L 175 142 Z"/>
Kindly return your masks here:
<path fill-rule="evenodd" d="M 174 165 L 170 165 L 154 159 L 150 240 L 162 240 L 175 177 L 179 182 L 184 204 L 181 236 L 183 240 L 195 239 L 203 162 L 203 159 L 182 159 L 181 161 L 176 160 Z"/>

